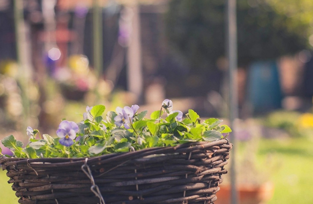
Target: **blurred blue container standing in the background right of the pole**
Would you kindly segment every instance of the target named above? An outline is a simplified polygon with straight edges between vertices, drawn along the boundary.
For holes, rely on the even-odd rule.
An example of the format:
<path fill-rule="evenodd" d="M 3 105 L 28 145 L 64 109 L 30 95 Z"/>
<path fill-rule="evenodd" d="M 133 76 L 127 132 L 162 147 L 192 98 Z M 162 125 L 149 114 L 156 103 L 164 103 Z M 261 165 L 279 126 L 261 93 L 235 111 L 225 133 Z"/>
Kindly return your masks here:
<path fill-rule="evenodd" d="M 276 61 L 252 63 L 247 84 L 248 100 L 254 112 L 281 108 L 282 93 Z"/>

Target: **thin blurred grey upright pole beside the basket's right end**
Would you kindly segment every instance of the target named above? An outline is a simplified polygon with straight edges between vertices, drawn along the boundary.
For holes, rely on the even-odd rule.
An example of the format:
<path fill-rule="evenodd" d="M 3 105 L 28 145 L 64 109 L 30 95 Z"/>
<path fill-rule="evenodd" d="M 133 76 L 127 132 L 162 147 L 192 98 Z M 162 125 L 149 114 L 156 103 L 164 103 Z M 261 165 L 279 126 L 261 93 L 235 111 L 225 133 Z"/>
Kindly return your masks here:
<path fill-rule="evenodd" d="M 238 90 L 237 90 L 237 19 L 236 0 L 227 0 L 227 58 L 229 63 L 229 122 L 233 129 L 230 142 L 234 145 L 230 162 L 231 204 L 238 203 L 236 188 L 236 124 L 238 118 Z"/>

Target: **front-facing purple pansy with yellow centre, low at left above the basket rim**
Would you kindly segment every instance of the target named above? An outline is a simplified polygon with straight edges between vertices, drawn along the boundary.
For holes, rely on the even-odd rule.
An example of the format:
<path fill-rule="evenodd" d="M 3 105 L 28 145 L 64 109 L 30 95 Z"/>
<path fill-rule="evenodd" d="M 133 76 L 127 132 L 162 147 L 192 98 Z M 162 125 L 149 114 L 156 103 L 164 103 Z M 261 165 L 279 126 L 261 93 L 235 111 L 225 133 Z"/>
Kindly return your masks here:
<path fill-rule="evenodd" d="M 75 122 L 67 120 L 62 121 L 57 130 L 57 135 L 61 138 L 59 140 L 60 144 L 66 147 L 73 145 L 73 140 L 75 139 L 78 130 L 78 125 Z"/>

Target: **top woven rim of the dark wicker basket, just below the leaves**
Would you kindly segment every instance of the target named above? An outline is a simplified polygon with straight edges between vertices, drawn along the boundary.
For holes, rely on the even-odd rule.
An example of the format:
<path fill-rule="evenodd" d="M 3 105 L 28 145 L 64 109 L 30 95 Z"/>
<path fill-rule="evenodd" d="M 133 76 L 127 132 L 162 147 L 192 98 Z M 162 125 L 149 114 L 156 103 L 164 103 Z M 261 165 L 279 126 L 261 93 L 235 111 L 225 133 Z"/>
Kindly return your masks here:
<path fill-rule="evenodd" d="M 5 157 L 3 156 L 2 158 L 0 158 L 0 165 L 2 165 L 3 163 L 6 162 L 17 162 L 17 164 L 19 163 L 25 163 L 25 161 L 27 161 L 27 163 L 34 163 L 34 162 L 46 162 L 46 163 L 53 163 L 55 165 L 58 164 L 62 164 L 64 165 L 64 163 L 71 163 L 72 165 L 74 164 L 82 164 L 85 162 L 85 159 L 88 158 L 88 162 L 92 163 L 92 162 L 97 162 L 97 161 L 102 161 L 105 159 L 117 159 L 118 157 L 136 157 L 138 155 L 140 155 L 140 157 L 142 157 L 143 153 L 146 153 L 147 155 L 151 155 L 152 153 L 155 154 L 164 154 L 167 151 L 173 151 L 173 150 L 177 150 L 180 148 L 186 148 L 186 147 L 191 147 L 191 146 L 203 146 L 205 145 L 205 147 L 203 146 L 203 148 L 209 148 L 209 147 L 214 147 L 214 146 L 219 146 L 219 145 L 226 145 L 226 144 L 231 144 L 229 143 L 228 139 L 221 139 L 221 140 L 216 140 L 216 141 L 212 141 L 212 142 L 188 142 L 188 143 L 184 143 L 184 144 L 179 144 L 177 146 L 174 147 L 155 147 L 155 148 L 145 148 L 145 149 L 140 149 L 140 150 L 136 150 L 136 151 L 130 151 L 130 152 L 122 152 L 122 153 L 112 153 L 112 154 L 104 154 L 101 156 L 95 156 L 95 157 L 80 157 L 80 158 L 60 158 L 60 157 L 56 157 L 56 158 L 36 158 L 36 159 L 30 159 L 30 158 L 18 158 L 18 157 Z M 231 144 L 232 145 L 232 144 Z"/>

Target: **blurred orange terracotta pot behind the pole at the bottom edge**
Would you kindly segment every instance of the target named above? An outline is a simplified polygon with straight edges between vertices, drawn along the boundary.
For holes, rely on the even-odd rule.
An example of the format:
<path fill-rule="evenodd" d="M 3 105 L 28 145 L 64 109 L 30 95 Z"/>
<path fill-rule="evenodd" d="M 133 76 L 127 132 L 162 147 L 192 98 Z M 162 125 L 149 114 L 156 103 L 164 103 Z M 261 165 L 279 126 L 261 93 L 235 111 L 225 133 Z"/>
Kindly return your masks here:
<path fill-rule="evenodd" d="M 230 185 L 220 185 L 221 190 L 217 192 L 217 201 L 215 204 L 230 204 Z M 272 183 L 262 185 L 238 185 L 239 204 L 266 204 L 274 192 Z"/>

